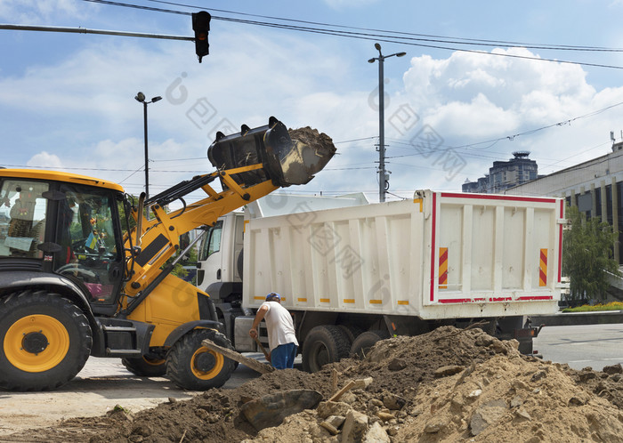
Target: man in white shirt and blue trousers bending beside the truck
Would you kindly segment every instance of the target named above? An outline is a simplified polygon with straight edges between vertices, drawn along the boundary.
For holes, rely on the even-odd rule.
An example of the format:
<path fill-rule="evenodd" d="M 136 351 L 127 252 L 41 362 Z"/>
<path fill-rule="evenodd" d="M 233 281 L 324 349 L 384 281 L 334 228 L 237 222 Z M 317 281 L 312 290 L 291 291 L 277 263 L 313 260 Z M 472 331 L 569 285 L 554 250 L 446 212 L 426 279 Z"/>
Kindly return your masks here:
<path fill-rule="evenodd" d="M 266 321 L 268 329 L 271 365 L 277 369 L 294 367 L 298 342 L 292 316 L 286 308 L 281 306 L 281 295 L 276 293 L 266 295 L 266 301 L 257 310 L 253 326 L 249 330 L 249 335 L 254 339 L 257 337 L 257 326 L 260 325 L 262 319 Z"/>

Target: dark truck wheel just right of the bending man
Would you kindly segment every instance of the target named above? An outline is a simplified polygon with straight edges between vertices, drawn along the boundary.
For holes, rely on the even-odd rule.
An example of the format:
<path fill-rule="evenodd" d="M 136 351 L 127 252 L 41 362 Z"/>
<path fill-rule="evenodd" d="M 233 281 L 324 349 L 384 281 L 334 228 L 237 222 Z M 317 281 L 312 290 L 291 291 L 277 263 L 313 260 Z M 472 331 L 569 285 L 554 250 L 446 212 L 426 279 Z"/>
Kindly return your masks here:
<path fill-rule="evenodd" d="M 348 357 L 349 350 L 348 336 L 340 326 L 316 326 L 303 342 L 303 371 L 320 371 L 322 366 Z"/>

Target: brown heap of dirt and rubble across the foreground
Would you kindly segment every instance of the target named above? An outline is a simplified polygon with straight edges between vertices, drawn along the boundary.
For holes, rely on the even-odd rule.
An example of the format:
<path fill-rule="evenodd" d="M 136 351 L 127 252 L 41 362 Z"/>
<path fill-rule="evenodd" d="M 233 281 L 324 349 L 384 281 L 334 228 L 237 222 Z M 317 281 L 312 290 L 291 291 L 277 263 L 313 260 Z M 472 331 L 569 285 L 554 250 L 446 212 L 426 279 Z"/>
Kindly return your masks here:
<path fill-rule="evenodd" d="M 620 440 L 620 366 L 609 366 L 611 374 L 573 371 L 516 348 L 480 329 L 444 326 L 378 342 L 365 360 L 343 360 L 319 373 L 277 371 L 236 390 L 207 391 L 134 416 L 119 408 L 12 441 Z M 328 402 L 335 374 L 339 388 L 350 380 L 369 384 Z M 325 401 L 259 432 L 240 412 L 250 399 L 299 389 L 319 391 Z"/>

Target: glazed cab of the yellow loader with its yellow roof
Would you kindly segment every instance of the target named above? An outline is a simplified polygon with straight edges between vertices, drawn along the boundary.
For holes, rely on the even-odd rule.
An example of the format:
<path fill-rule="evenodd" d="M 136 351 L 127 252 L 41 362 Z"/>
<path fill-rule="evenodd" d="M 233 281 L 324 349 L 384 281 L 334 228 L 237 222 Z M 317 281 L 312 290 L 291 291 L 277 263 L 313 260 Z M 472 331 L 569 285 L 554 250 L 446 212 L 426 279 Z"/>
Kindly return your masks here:
<path fill-rule="evenodd" d="M 79 177 L 1 170 L 0 271 L 69 278 L 97 310 L 117 304 L 122 284 L 117 201 L 123 194 L 118 185 L 91 179 L 100 184 L 93 186 Z"/>

